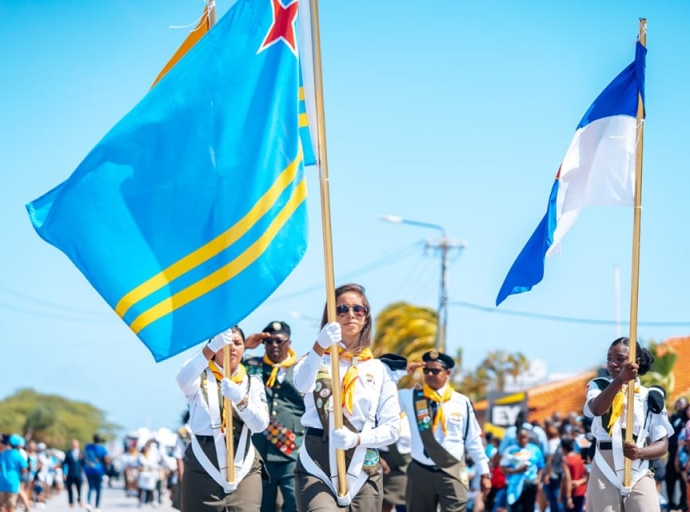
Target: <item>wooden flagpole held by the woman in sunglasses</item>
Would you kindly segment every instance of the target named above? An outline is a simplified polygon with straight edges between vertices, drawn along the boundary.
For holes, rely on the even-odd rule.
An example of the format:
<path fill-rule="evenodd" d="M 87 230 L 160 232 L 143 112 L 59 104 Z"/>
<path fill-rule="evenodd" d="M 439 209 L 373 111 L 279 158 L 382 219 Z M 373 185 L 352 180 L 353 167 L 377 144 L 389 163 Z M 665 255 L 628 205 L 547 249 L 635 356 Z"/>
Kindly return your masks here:
<path fill-rule="evenodd" d="M 312 40 L 314 47 L 314 97 L 317 119 L 317 158 L 319 184 L 321 191 L 321 226 L 323 232 L 324 270 L 326 273 L 326 314 L 328 322 L 336 321 L 335 313 L 335 272 L 333 270 L 333 237 L 331 233 L 331 207 L 328 187 L 328 157 L 326 155 L 326 120 L 323 102 L 323 76 L 321 71 L 321 38 L 319 32 L 318 0 L 311 0 Z M 333 380 L 333 423 L 336 429 L 343 428 L 342 390 L 340 388 L 340 361 L 338 345 L 330 348 L 331 379 Z M 347 494 L 347 469 L 345 452 L 336 450 L 338 470 L 338 496 Z"/>

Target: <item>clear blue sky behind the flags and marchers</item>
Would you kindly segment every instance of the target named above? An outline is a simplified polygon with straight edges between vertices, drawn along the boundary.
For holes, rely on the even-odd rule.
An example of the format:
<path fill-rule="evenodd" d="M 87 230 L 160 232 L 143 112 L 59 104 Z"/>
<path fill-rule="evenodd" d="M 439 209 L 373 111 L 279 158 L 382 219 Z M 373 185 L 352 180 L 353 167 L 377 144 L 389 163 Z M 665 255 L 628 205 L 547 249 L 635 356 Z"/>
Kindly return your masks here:
<path fill-rule="evenodd" d="M 218 0 L 221 13 L 228 5 Z M 0 0 L 0 397 L 29 386 L 92 402 L 127 429 L 178 425 L 185 402 L 174 374 L 190 353 L 156 364 L 39 239 L 24 205 L 66 179 L 143 97 L 186 36 L 170 26 L 202 9 L 200 0 Z M 462 347 L 473 369 L 489 350 L 520 351 L 552 373 L 603 362 L 615 326 L 506 312 L 614 320 L 618 266 L 625 322 L 632 211 L 584 211 L 542 284 L 492 306 L 577 123 L 632 61 L 647 17 L 639 320 L 688 323 L 642 323 L 639 335 L 690 333 L 690 4 L 322 1 L 320 11 L 337 284 L 363 284 L 374 314 L 400 300 L 436 307 L 439 257 L 423 240 L 438 234 L 378 216 L 440 224 L 468 243 L 449 270 L 449 352 Z M 315 170 L 309 185 L 307 255 L 241 324 L 252 332 L 286 320 L 299 354 L 325 300 Z"/>

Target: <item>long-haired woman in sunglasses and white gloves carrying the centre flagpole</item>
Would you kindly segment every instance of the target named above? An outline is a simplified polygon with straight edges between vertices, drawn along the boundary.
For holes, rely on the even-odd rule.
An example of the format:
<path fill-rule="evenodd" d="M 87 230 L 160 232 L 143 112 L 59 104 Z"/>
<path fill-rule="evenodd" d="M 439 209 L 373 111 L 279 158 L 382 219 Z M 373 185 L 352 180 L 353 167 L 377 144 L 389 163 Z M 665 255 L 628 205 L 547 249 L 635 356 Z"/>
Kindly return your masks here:
<path fill-rule="evenodd" d="M 377 448 L 398 440 L 400 405 L 397 387 L 384 364 L 374 359 L 372 318 L 364 288 L 357 284 L 335 291 L 337 322 L 327 323 L 312 351 L 297 363 L 295 387 L 305 393 L 306 427 L 296 476 L 300 512 L 379 511 L 383 503 L 383 472 Z M 332 403 L 333 381 L 327 350 L 339 345 L 342 403 Z M 343 428 L 334 429 L 333 407 L 341 407 Z M 345 450 L 347 492 L 338 496 L 335 450 Z"/>

